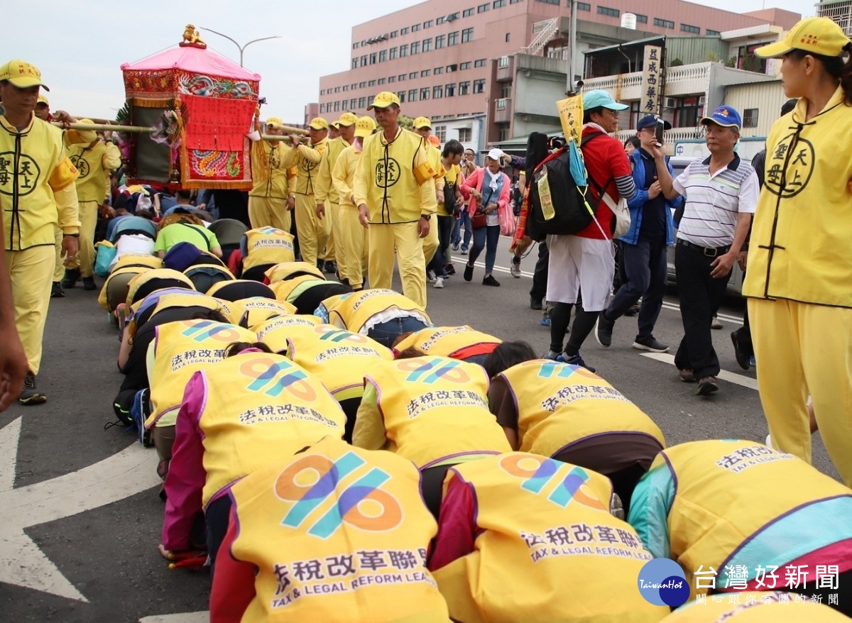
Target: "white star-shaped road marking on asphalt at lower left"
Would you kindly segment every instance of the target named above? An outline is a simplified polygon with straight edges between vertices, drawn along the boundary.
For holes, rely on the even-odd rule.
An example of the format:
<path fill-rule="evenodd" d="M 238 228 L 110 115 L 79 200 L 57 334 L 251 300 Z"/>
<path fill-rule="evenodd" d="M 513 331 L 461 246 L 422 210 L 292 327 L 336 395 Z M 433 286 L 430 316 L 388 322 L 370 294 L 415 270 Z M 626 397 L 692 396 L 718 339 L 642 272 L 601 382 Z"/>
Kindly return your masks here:
<path fill-rule="evenodd" d="M 87 602 L 24 529 L 151 489 L 160 482 L 157 455 L 133 443 L 77 472 L 14 489 L 19 436 L 20 418 L 0 430 L 0 582 Z"/>

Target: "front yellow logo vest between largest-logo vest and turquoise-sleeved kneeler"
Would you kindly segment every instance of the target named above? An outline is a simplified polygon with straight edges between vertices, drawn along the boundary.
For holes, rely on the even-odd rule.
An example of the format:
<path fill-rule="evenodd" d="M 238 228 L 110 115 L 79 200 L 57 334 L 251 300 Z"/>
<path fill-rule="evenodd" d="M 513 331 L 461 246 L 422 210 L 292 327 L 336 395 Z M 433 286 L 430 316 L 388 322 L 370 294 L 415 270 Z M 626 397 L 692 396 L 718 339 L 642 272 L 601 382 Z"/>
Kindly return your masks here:
<path fill-rule="evenodd" d="M 445 488 L 453 480 L 476 505 L 474 551 L 434 571 L 453 620 L 653 623 L 668 614 L 636 590 L 652 556 L 609 512 L 607 477 L 513 452 L 454 466 Z"/>

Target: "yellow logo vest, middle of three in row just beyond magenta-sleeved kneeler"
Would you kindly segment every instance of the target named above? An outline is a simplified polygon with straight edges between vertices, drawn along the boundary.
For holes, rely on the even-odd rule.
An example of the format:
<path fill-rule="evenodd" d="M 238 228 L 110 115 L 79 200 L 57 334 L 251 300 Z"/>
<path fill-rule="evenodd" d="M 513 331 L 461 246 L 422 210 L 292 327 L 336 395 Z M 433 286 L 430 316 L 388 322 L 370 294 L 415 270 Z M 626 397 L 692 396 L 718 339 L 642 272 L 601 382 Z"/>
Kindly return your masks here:
<path fill-rule="evenodd" d="M 287 357 L 316 374 L 339 401 L 363 396 L 366 367 L 394 358 L 376 340 L 331 324 L 288 329 Z"/>

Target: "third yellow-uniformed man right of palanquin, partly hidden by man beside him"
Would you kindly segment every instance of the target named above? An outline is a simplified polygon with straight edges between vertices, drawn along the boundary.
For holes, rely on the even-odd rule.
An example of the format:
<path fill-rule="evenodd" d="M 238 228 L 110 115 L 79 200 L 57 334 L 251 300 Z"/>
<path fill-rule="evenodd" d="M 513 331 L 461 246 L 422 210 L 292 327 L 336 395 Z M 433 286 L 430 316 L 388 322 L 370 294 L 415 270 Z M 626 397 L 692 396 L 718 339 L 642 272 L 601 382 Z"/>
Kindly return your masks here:
<path fill-rule="evenodd" d="M 346 272 L 346 259 L 343 256 L 343 245 L 341 240 L 343 232 L 340 231 L 340 196 L 337 188 L 331 182 L 331 171 L 337 164 L 341 152 L 352 145 L 355 138 L 355 117 L 351 112 L 344 112 L 337 121 L 339 133 L 336 139 L 329 140 L 325 157 L 320 163 L 320 173 L 317 175 L 317 183 L 314 186 L 314 200 L 316 201 L 317 218 L 331 221 L 331 237 L 326 244 L 326 263 L 333 258 L 337 260 L 337 276 L 342 283 L 349 283 Z M 333 261 L 332 260 L 332 261 Z M 331 266 L 330 266 L 331 267 Z"/>

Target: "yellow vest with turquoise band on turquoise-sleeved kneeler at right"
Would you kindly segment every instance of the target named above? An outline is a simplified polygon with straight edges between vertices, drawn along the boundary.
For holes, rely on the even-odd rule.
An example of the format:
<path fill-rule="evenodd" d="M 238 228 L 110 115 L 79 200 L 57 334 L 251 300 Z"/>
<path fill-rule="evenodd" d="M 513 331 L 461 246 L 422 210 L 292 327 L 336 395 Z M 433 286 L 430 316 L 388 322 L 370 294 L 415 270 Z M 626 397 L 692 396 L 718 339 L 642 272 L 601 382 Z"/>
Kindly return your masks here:
<path fill-rule="evenodd" d="M 668 517 L 671 557 L 683 568 L 691 597 L 705 592 L 696 589 L 694 580 L 701 565 L 721 576 L 726 564 L 749 557 L 751 579 L 755 563 L 780 568 L 852 538 L 846 520 L 852 515 L 852 491 L 792 454 L 757 442 L 714 439 L 663 450 L 651 471 L 665 464 L 676 483 Z M 824 502 L 824 529 L 814 531 L 791 517 L 795 510 L 820 500 L 831 500 Z M 772 531 L 769 540 L 777 549 L 751 552 L 751 541 L 764 529 Z"/>

